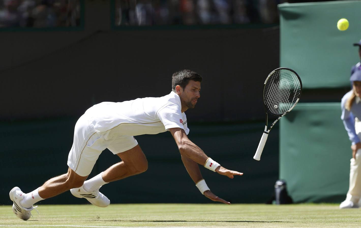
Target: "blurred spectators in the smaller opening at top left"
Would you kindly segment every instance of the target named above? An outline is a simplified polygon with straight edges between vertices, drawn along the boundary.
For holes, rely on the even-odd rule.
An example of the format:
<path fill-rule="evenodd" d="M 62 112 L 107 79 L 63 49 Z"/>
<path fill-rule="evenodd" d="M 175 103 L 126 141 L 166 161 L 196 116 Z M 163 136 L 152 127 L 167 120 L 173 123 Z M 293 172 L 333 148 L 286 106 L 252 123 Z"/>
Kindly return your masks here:
<path fill-rule="evenodd" d="M 79 24 L 79 0 L 0 0 L 0 27 L 48 28 Z"/>

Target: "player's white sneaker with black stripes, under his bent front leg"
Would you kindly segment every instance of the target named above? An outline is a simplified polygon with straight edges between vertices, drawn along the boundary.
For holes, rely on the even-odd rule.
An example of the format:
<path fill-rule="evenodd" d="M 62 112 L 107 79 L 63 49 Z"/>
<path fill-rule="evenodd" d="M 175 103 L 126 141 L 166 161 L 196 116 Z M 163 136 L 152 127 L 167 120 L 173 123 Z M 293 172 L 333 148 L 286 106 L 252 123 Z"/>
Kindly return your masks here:
<path fill-rule="evenodd" d="M 71 194 L 78 198 L 85 198 L 92 205 L 105 208 L 109 206 L 110 200 L 108 197 L 104 196 L 101 192 L 99 192 L 99 188 L 92 192 L 87 192 L 84 190 L 84 185 L 80 188 L 72 188 L 70 189 Z"/>

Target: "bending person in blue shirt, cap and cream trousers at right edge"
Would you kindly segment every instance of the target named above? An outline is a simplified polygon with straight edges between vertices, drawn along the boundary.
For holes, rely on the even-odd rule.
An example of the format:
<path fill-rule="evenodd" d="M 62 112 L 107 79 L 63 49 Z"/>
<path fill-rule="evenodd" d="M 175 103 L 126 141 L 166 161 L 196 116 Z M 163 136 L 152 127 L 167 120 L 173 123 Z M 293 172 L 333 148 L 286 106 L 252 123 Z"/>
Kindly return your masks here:
<path fill-rule="evenodd" d="M 350 160 L 350 183 L 346 199 L 340 204 L 343 208 L 358 208 L 361 198 L 361 128 L 355 127 L 355 118 L 361 119 L 361 70 L 350 77 L 352 90 L 342 97 L 341 119 L 351 141 L 352 158 Z"/>

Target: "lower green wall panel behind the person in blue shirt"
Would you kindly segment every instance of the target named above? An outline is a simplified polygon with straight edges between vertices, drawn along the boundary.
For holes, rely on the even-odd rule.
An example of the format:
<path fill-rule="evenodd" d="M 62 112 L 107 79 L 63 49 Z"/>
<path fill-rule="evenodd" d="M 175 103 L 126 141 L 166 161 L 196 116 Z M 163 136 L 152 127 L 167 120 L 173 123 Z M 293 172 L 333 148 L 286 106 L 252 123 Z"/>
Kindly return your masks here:
<path fill-rule="evenodd" d="M 280 178 L 296 202 L 341 202 L 351 142 L 340 103 L 300 103 L 280 120 Z"/>

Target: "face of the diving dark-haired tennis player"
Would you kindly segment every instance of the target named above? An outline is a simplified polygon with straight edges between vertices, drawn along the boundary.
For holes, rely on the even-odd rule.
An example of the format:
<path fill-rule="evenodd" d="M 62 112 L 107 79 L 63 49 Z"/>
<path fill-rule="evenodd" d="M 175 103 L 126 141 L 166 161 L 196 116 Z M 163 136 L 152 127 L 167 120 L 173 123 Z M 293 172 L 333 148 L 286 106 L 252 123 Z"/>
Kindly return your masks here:
<path fill-rule="evenodd" d="M 182 90 L 182 88 L 181 88 Z M 197 104 L 198 98 L 201 96 L 201 83 L 196 81 L 189 81 L 188 85 L 182 90 L 181 98 L 182 106 L 185 105 L 187 109 L 192 109 Z M 183 107 L 182 107 L 183 109 Z"/>

